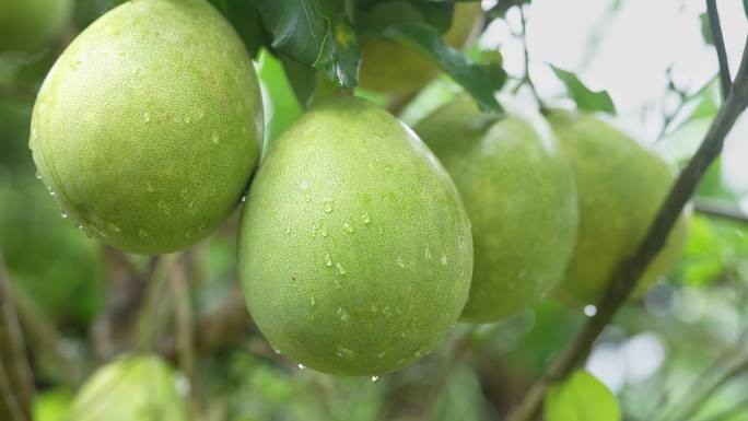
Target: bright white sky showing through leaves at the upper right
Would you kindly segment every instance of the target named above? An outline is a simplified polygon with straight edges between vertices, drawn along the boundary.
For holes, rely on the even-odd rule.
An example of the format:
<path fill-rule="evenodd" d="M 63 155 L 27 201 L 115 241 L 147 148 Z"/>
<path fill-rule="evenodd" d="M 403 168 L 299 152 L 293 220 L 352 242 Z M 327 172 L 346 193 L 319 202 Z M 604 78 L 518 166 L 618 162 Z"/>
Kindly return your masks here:
<path fill-rule="evenodd" d="M 493 0 L 484 0 L 487 5 Z M 668 67 L 675 84 L 697 91 L 717 71 L 713 47 L 703 42 L 699 15 L 703 0 L 534 0 L 527 9 L 530 75 L 544 98 L 563 93 L 547 63 L 574 71 L 594 90 L 612 97 L 621 124 L 643 141 L 652 141 L 662 127 L 663 107 L 673 107 L 665 95 Z M 717 0 L 731 70 L 737 70 L 748 23 L 739 0 Z M 523 73 L 523 48 L 511 32 L 521 31 L 519 13 L 509 24 L 495 21 L 481 38 L 484 47 L 501 49 L 507 72 Z M 708 125 L 688 132 L 692 145 Z M 723 177 L 745 195 L 748 210 L 748 116 L 727 140 Z"/>

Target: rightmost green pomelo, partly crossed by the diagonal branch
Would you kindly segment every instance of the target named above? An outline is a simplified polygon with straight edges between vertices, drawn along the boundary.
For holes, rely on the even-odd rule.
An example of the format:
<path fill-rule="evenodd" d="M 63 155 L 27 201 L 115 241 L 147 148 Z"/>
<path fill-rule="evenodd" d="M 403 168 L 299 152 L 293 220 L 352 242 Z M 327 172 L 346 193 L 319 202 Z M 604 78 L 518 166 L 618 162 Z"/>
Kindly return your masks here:
<path fill-rule="evenodd" d="M 635 253 L 674 175 L 657 155 L 595 116 L 552 110 L 547 117 L 572 166 L 580 207 L 574 256 L 556 294 L 575 305 L 591 304 L 601 297 L 616 266 Z M 643 294 L 680 257 L 687 220 L 685 212 L 633 296 Z"/>

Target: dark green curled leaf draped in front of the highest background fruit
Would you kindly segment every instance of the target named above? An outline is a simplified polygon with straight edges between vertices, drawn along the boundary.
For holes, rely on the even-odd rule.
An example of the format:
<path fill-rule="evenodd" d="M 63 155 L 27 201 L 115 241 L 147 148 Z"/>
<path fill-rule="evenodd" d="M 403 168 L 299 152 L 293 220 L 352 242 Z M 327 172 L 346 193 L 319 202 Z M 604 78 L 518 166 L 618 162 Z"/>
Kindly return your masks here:
<path fill-rule="evenodd" d="M 424 23 L 402 23 L 383 34 L 421 52 L 459 83 L 487 112 L 503 113 L 494 97 L 506 81 L 506 73 L 495 62 L 479 65 L 452 48 L 434 27 Z"/>

